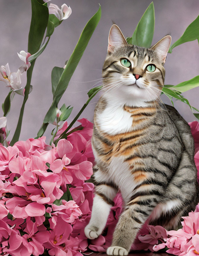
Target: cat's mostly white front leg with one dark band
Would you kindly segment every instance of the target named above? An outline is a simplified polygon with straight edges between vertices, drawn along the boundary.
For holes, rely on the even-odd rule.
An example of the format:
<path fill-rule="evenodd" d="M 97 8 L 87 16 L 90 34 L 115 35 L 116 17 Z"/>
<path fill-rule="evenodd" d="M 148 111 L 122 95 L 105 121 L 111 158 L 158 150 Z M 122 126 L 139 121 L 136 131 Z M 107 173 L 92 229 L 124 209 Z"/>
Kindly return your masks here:
<path fill-rule="evenodd" d="M 95 239 L 104 230 L 116 193 L 117 190 L 111 185 L 100 184 L 95 187 L 91 219 L 84 229 L 87 238 Z"/>

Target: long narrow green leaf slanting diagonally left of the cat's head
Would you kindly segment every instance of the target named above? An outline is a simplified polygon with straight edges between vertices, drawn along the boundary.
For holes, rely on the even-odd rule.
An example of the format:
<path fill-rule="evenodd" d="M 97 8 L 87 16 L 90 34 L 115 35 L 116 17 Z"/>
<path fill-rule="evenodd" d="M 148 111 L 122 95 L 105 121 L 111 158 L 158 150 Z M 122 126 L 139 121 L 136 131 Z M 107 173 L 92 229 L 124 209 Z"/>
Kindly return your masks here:
<path fill-rule="evenodd" d="M 78 40 L 77 45 L 66 64 L 66 67 L 60 77 L 56 91 L 54 93 L 54 98 L 56 98 L 56 104 L 59 103 L 62 95 L 64 94 L 66 88 L 68 87 L 70 78 L 72 77 L 72 75 L 79 63 L 81 56 L 83 55 L 84 50 L 86 49 L 86 46 L 87 46 L 95 28 L 97 27 L 98 22 L 100 21 L 100 18 L 101 18 L 101 7 L 86 24 L 84 30 L 81 33 L 81 36 Z"/>

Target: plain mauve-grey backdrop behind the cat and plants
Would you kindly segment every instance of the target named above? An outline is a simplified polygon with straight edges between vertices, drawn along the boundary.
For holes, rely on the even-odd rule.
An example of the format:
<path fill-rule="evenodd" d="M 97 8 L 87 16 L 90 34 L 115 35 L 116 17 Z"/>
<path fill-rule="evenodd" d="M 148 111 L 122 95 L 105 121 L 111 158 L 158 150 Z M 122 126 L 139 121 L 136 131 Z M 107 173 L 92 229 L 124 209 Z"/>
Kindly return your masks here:
<path fill-rule="evenodd" d="M 87 21 L 98 9 L 98 2 L 102 7 L 102 18 L 89 41 L 83 57 L 76 68 L 75 73 L 69 83 L 68 89 L 63 95 L 59 107 L 63 103 L 73 106 L 68 121 L 78 113 L 87 100 L 88 90 L 101 78 L 101 69 L 107 51 L 107 38 L 113 20 L 122 30 L 125 36 L 131 36 L 142 17 L 145 9 L 151 0 L 52 0 L 54 4 L 61 7 L 63 3 L 70 5 L 72 14 L 64 20 L 55 31 L 49 41 L 45 51 L 38 57 L 33 70 L 31 84 L 33 91 L 29 95 L 25 105 L 23 117 L 21 140 L 35 137 L 38 132 L 46 111 L 52 103 L 51 92 L 51 71 L 54 66 L 63 67 L 78 41 L 78 38 Z M 171 33 L 172 43 L 182 36 L 187 26 L 199 15 L 199 1 L 197 0 L 154 0 L 155 6 L 155 32 L 153 44 Z M 17 52 L 27 51 L 28 32 L 31 21 L 31 1 L 30 0 L 1 0 L 0 8 L 0 65 L 9 63 L 11 72 L 16 72 L 22 65 Z M 198 65 L 199 47 L 197 41 L 182 44 L 173 49 L 172 54 L 168 54 L 165 69 L 165 84 L 176 85 L 182 81 L 189 80 L 199 74 Z M 88 82 L 92 81 L 92 82 Z M 25 87 L 26 75 L 23 75 L 23 87 Z M 99 85 L 98 83 L 96 85 Z M 0 81 L 0 104 L 3 103 L 9 89 L 4 82 Z M 183 93 L 190 101 L 190 104 L 199 108 L 198 103 L 199 88 Z M 92 121 L 95 103 L 98 94 L 89 106 L 82 113 Z M 163 95 L 165 103 L 169 103 L 168 98 Z M 9 138 L 14 134 L 20 107 L 23 97 L 15 95 L 11 105 L 11 111 L 7 118 L 7 127 L 11 130 Z M 181 102 L 175 103 L 176 109 L 187 120 L 196 120 L 190 108 Z M 0 117 L 3 116 L 0 110 Z M 49 125 L 45 132 L 47 142 L 50 140 L 53 125 Z"/>

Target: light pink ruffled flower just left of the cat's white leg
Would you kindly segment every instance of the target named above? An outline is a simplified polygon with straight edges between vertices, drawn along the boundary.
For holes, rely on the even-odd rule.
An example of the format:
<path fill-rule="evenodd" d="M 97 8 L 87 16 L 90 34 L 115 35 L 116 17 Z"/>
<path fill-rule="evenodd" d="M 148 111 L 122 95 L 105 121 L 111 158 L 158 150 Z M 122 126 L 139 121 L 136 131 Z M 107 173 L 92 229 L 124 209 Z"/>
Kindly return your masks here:
<path fill-rule="evenodd" d="M 75 219 L 78 219 L 79 216 L 82 215 L 79 206 L 75 201 L 65 201 L 62 200 L 62 205 L 57 206 L 55 204 L 52 205 L 52 216 L 60 216 L 65 222 L 74 223 Z"/>

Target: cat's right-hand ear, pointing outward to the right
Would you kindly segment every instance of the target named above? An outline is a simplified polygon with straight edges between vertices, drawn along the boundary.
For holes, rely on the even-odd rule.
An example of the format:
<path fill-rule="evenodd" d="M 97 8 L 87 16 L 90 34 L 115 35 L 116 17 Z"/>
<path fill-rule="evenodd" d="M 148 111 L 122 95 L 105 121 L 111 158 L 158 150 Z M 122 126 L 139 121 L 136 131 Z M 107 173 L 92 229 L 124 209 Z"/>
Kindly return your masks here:
<path fill-rule="evenodd" d="M 151 49 L 155 50 L 158 53 L 163 63 L 165 63 L 166 55 L 170 47 L 170 44 L 171 44 L 171 36 L 165 36 L 159 42 L 157 42 L 157 44 L 151 47 Z"/>

